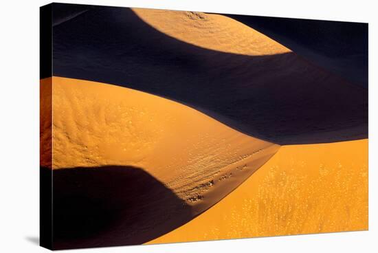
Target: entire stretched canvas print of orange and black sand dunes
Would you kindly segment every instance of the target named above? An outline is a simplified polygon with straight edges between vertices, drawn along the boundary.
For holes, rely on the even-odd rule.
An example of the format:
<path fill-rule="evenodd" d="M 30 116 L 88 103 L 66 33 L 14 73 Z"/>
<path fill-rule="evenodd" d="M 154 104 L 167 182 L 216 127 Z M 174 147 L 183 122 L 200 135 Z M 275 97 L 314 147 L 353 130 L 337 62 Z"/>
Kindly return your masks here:
<path fill-rule="evenodd" d="M 41 245 L 368 229 L 368 24 L 41 8 Z"/>

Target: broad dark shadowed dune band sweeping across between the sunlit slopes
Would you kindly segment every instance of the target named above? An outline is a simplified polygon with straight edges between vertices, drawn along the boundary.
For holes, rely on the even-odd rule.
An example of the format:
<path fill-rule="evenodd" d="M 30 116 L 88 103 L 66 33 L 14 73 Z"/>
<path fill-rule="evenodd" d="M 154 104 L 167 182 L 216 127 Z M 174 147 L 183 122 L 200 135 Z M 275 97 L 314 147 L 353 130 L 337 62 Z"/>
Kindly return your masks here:
<path fill-rule="evenodd" d="M 53 34 L 54 76 L 177 100 L 278 144 L 368 137 L 368 91 L 297 54 L 206 50 L 162 34 L 129 8 L 91 8 Z"/>

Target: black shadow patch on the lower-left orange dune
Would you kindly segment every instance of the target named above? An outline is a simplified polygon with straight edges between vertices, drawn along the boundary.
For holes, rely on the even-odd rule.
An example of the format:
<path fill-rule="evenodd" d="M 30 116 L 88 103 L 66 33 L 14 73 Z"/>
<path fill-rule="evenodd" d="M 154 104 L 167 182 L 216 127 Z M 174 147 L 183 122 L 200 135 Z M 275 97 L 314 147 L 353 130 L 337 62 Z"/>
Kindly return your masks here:
<path fill-rule="evenodd" d="M 55 250 L 142 244 L 192 218 L 184 201 L 141 168 L 65 168 L 53 175 Z"/>

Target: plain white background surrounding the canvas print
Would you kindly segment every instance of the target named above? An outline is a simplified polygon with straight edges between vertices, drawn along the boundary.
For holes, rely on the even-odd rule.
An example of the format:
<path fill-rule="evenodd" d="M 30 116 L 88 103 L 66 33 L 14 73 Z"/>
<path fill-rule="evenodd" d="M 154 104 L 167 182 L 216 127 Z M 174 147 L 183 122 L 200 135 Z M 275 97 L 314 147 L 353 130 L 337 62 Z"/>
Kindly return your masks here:
<path fill-rule="evenodd" d="M 279 236 L 76 250 L 75 252 L 377 252 L 377 7 L 368 1 L 65 1 L 369 23 L 368 232 Z M 47 252 L 38 246 L 39 6 L 48 1 L 2 1 L 0 8 L 0 252 Z M 375 240 L 374 240 L 375 239 Z"/>

